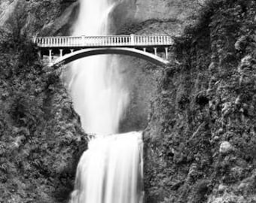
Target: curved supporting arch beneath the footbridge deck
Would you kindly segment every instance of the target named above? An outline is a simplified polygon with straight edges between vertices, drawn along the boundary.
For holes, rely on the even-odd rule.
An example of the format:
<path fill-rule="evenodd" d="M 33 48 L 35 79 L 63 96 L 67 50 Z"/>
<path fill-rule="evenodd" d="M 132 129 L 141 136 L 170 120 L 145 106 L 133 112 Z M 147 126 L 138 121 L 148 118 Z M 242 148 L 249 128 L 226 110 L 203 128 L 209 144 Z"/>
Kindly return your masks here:
<path fill-rule="evenodd" d="M 135 56 L 137 58 L 145 59 L 149 62 L 152 62 L 155 65 L 160 65 L 160 66 L 169 65 L 168 60 L 162 59 L 159 56 L 154 55 L 153 53 L 137 50 L 135 48 L 106 47 L 106 48 L 83 49 L 83 50 L 77 50 L 72 53 L 68 53 L 64 56 L 60 56 L 53 63 L 51 63 L 50 66 L 58 65 L 60 63 L 67 64 L 69 62 L 73 62 L 77 59 L 81 59 L 87 56 L 95 56 L 95 55 L 102 55 L 102 54 L 121 54 L 121 55 L 127 55 L 127 56 Z"/>

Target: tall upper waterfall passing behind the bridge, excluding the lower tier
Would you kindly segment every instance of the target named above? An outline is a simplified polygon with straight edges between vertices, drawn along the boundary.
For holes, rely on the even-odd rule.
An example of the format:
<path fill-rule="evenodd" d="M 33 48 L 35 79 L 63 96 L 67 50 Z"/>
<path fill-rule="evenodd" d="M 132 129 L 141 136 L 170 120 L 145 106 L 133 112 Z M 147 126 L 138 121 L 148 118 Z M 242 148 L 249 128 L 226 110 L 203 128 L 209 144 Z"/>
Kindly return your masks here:
<path fill-rule="evenodd" d="M 73 35 L 108 35 L 108 16 L 114 5 L 109 0 L 81 1 Z M 92 56 L 73 62 L 69 88 L 86 132 L 118 132 L 128 92 L 113 56 Z"/>

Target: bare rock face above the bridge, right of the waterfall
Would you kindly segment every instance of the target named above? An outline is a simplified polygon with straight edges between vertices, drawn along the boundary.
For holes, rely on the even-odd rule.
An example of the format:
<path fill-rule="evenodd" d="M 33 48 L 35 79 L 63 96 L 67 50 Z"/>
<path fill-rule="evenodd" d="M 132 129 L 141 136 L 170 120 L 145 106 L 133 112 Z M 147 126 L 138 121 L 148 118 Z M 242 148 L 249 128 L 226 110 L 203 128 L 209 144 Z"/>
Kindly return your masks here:
<path fill-rule="evenodd" d="M 205 0 L 121 0 L 113 11 L 112 21 L 120 32 L 127 34 L 181 34 L 184 27 L 194 22 L 198 9 Z M 170 26 L 172 24 L 175 27 Z"/>

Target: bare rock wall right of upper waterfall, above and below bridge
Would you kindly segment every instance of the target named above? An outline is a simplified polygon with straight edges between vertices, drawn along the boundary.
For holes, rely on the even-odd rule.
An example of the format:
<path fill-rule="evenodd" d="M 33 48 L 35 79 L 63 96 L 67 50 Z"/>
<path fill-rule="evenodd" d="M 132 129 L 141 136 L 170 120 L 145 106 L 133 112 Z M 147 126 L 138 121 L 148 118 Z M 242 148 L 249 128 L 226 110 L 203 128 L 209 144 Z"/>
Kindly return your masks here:
<path fill-rule="evenodd" d="M 181 35 L 184 28 L 194 23 L 204 1 L 129 1 L 123 0 L 111 14 L 118 35 Z M 129 9 L 127 9 L 129 8 Z M 174 61 L 169 51 L 169 59 Z M 157 53 L 165 57 L 162 52 Z M 125 83 L 130 89 L 130 105 L 120 123 L 121 132 L 143 130 L 147 127 L 158 83 L 164 68 L 130 56 L 118 56 Z"/>

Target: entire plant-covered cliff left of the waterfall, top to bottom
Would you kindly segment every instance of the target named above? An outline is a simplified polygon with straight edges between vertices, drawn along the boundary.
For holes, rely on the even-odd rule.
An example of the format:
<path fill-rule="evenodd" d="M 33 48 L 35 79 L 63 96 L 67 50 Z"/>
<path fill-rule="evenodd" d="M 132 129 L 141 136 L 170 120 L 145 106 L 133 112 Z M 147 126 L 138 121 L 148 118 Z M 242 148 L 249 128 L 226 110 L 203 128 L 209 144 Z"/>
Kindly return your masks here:
<path fill-rule="evenodd" d="M 61 71 L 38 61 L 28 37 L 65 34 L 50 25 L 74 4 L 0 3 L 0 202 L 64 202 L 72 191 L 87 137 Z"/>

